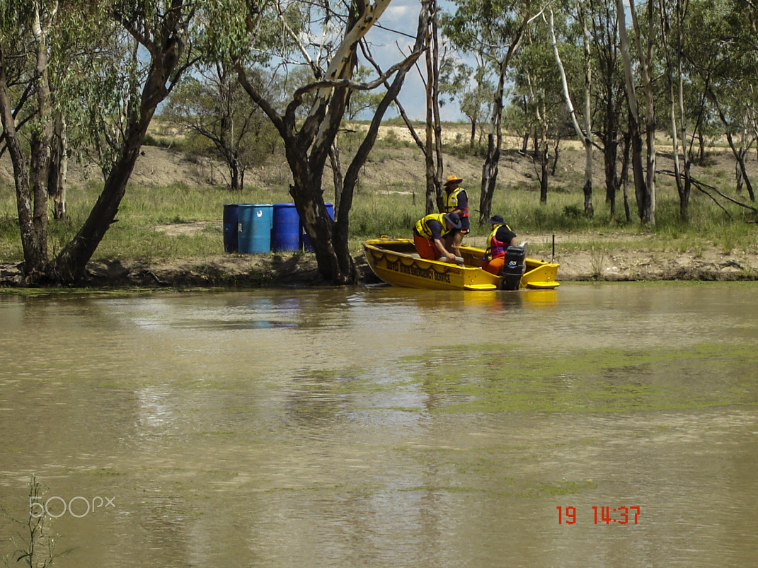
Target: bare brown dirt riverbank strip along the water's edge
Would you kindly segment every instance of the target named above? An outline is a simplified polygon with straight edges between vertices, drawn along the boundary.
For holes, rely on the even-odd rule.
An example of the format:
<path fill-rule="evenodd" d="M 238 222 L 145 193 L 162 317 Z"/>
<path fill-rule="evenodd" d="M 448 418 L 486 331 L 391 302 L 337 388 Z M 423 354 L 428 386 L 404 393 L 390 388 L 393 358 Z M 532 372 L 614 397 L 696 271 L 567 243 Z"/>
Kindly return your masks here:
<path fill-rule="evenodd" d="M 528 239 L 527 239 L 528 240 Z M 698 251 L 662 251 L 615 248 L 612 240 L 583 250 L 556 249 L 560 282 L 592 281 L 753 281 L 758 280 L 758 254 L 735 248 L 725 252 L 713 247 Z M 471 242 L 471 245 L 481 245 Z M 550 254 L 531 254 L 550 260 Z M 380 282 L 363 254 L 356 255 L 360 284 Z M 0 266 L 0 286 L 20 282 L 17 265 Z M 196 288 L 264 286 L 323 286 L 314 254 L 212 254 L 171 261 L 99 260 L 89 264 L 86 286 L 98 288 Z"/>

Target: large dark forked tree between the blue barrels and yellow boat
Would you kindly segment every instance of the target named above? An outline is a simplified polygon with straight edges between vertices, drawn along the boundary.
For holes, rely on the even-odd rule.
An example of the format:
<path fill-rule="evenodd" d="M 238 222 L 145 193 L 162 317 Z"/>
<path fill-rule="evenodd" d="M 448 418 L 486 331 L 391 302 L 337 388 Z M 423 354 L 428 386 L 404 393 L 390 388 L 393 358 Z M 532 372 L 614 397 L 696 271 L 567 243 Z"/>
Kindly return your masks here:
<path fill-rule="evenodd" d="M 354 80 L 359 43 L 380 20 L 390 0 L 373 3 L 353 0 L 334 5 L 224 0 L 218 2 L 220 10 L 209 26 L 214 52 L 235 62 L 240 84 L 282 139 L 293 176 L 290 195 L 311 239 L 318 272 L 327 282 L 340 285 L 356 281 L 356 267 L 348 248 L 353 192 L 381 119 L 396 98 L 409 68 L 421 55 L 430 2 L 424 0 L 421 4 L 411 54 L 368 83 Z M 283 109 L 277 108 L 250 80 L 248 70 L 253 64 L 274 67 L 273 73 L 287 73 L 291 64 L 299 64 L 311 70 L 312 80 L 291 93 Z M 340 208 L 332 220 L 327 214 L 321 183 L 350 94 L 354 89 L 374 89 L 390 77 L 390 86 L 377 106 L 368 133 L 346 170 Z M 296 113 L 307 100 L 310 101 L 307 114 L 297 120 Z"/>

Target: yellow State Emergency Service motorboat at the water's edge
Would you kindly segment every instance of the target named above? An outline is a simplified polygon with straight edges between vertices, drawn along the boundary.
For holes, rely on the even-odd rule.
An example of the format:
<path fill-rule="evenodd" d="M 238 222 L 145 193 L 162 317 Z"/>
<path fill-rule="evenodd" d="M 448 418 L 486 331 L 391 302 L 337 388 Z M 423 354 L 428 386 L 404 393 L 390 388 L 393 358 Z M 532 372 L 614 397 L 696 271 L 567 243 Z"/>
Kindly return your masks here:
<path fill-rule="evenodd" d="M 392 286 L 433 290 L 553 289 L 558 264 L 525 257 L 523 247 L 509 247 L 503 276 L 482 270 L 484 248 L 461 246 L 457 262 L 427 261 L 410 239 L 370 239 L 363 243 L 368 266 Z M 511 265 L 509 267 L 509 264 Z"/>

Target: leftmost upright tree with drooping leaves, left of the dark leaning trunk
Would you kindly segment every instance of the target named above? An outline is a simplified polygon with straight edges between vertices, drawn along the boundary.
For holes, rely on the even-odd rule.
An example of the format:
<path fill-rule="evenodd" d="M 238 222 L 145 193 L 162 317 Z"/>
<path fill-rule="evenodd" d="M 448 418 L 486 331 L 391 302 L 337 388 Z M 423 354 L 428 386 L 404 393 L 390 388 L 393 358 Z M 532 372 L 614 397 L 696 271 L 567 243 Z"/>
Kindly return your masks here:
<path fill-rule="evenodd" d="M 94 26 L 91 3 L 0 3 L 2 151 L 11 155 L 24 269 L 30 281 L 49 270 L 48 204 L 66 218 L 65 175 L 70 150 L 83 133 L 78 89 L 107 26 Z M 86 90 L 86 89 L 85 89 Z"/>

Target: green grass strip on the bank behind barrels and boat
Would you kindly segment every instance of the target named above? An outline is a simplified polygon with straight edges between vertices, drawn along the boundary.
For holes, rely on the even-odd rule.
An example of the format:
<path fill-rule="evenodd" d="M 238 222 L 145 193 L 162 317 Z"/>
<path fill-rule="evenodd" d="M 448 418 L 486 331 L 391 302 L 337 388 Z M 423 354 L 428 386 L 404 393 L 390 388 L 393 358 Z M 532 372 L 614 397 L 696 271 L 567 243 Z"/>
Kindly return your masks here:
<path fill-rule="evenodd" d="M 381 154 L 381 148 L 379 150 L 376 155 Z M 471 159 L 481 163 L 479 158 Z M 501 186 L 496 190 L 493 200 L 493 214 L 503 214 L 516 233 L 546 237 L 543 245 L 531 243 L 531 250 L 535 253 L 549 251 L 548 237 L 551 234 L 556 235 L 563 250 L 607 249 L 608 236 L 613 236 L 612 246 L 618 248 L 642 248 L 640 236 L 644 236 L 644 248 L 691 251 L 695 255 L 698 251 L 713 246 L 728 253 L 735 248 L 749 249 L 758 245 L 754 216 L 749 211 L 730 205 L 730 218 L 700 192 L 694 192 L 691 198 L 690 223 L 681 223 L 678 218 L 678 196 L 665 178 L 660 180 L 657 187 L 657 223 L 654 229 L 642 227 L 637 220 L 634 195 L 630 195 L 632 221 L 626 223 L 623 196 L 618 196 L 617 213 L 614 219 L 610 219 L 604 191 L 597 187 L 594 192 L 595 215 L 588 219 L 583 214 L 584 197 L 581 189 L 566 189 L 581 188 L 581 179 L 556 178 L 551 183 L 547 204 L 540 204 L 536 186 Z M 411 192 L 397 192 L 396 188 L 409 189 L 409 183 L 407 180 L 396 180 L 396 183 L 385 184 L 383 189 L 364 186 L 356 193 L 350 215 L 351 250 L 354 253 L 360 251 L 360 242 L 367 238 L 381 235 L 411 236 L 413 223 L 424 214 L 424 188 L 415 188 L 415 195 Z M 69 220 L 58 223 L 51 216 L 51 257 L 74 236 L 89 214 L 99 191 L 100 186 L 96 183 L 69 190 Z M 468 191 L 474 220 L 471 236 L 486 236 L 489 226 L 480 227 L 476 224 L 478 189 L 469 188 Z M 291 201 L 284 185 L 281 189 L 268 190 L 256 189 L 252 183 L 247 183 L 241 194 L 221 188 L 196 188 L 181 184 L 157 189 L 131 186 L 121 204 L 118 222 L 111 226 L 94 257 L 119 258 L 122 261 L 143 259 L 151 262 L 222 254 L 224 204 Z M 327 197 L 327 201 L 332 200 Z M 0 186 L 0 262 L 3 263 L 20 262 L 23 258 L 16 217 L 13 187 Z M 187 223 L 199 224 L 199 230 L 178 235 L 158 230 L 167 225 L 182 226 Z"/>

